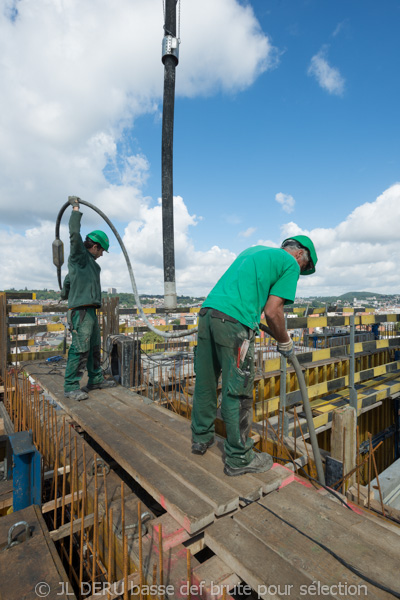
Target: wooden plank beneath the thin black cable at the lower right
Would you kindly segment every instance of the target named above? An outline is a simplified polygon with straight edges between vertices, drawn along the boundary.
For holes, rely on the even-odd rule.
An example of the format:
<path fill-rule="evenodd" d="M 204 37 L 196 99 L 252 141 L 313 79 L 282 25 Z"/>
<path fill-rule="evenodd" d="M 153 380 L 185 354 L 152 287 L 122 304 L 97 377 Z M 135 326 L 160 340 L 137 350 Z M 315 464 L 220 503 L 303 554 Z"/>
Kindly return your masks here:
<path fill-rule="evenodd" d="M 346 582 L 348 586 L 367 585 L 363 579 L 346 569 L 328 552 L 263 509 L 259 504 L 248 506 L 237 513 L 233 519 L 285 559 L 288 562 L 287 570 L 297 569 L 312 580 L 316 580 L 322 585 L 328 585 L 331 589 L 333 589 L 332 586 L 343 582 Z M 287 520 L 290 521 L 290 515 L 287 516 Z M 310 531 L 309 535 L 312 537 L 313 532 Z M 368 598 L 371 600 L 390 597 L 371 585 L 367 586 L 367 590 Z M 340 595 L 334 594 L 334 596 L 343 600 L 354 598 L 354 594 L 346 592 Z"/>

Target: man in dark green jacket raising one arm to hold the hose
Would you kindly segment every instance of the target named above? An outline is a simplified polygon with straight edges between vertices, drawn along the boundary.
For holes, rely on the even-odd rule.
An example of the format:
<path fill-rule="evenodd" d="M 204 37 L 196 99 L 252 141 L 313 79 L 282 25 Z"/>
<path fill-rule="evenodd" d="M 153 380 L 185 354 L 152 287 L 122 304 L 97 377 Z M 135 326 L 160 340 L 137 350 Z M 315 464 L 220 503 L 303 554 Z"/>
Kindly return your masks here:
<path fill-rule="evenodd" d="M 100 327 L 96 310 L 101 306 L 100 267 L 97 259 L 108 252 L 109 241 L 104 231 L 95 230 L 82 240 L 80 229 L 82 213 L 79 198 L 70 196 L 73 209 L 69 220 L 70 255 L 68 275 L 61 298 L 68 298 L 68 323 L 72 344 L 68 351 L 65 370 L 64 395 L 73 400 L 86 400 L 88 391 L 114 387 L 115 381 L 104 379 L 100 361 Z M 87 367 L 89 380 L 80 389 L 83 369 Z"/>

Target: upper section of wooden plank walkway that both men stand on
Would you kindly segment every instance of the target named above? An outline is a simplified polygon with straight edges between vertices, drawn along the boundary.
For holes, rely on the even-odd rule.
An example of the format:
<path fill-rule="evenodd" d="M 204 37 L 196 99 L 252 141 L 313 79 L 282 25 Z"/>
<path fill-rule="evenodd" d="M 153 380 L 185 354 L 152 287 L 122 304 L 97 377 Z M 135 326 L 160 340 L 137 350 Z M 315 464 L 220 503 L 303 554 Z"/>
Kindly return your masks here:
<path fill-rule="evenodd" d="M 64 398 L 63 378 L 51 366 L 27 372 L 104 450 L 190 534 L 240 506 L 277 489 L 290 472 L 276 465 L 269 473 L 228 477 L 223 444 L 204 456 L 191 453 L 190 423 L 156 404 L 145 404 L 121 386 L 96 390 L 89 399 Z M 242 501 L 243 504 L 243 501 Z"/>

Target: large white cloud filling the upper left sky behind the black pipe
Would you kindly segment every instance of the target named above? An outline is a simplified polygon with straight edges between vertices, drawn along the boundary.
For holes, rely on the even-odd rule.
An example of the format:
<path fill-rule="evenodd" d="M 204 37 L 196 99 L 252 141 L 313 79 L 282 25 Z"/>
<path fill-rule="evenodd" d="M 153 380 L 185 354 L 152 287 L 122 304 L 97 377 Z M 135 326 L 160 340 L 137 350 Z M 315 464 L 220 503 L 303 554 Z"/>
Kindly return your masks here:
<path fill-rule="evenodd" d="M 2 223 L 52 220 L 71 194 L 93 203 L 116 194 L 135 216 L 130 198 L 149 166 L 130 132 L 140 115 L 159 114 L 162 35 L 160 0 L 3 6 Z M 252 8 L 238 0 L 184 3 L 181 37 L 180 96 L 240 91 L 276 62 Z"/>

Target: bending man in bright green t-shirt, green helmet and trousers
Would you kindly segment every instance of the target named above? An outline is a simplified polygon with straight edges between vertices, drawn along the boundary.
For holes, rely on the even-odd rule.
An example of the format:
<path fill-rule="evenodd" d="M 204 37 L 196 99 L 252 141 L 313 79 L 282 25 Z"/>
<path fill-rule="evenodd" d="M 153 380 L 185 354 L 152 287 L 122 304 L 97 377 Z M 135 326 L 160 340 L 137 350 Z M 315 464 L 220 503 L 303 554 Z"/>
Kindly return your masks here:
<path fill-rule="evenodd" d="M 195 354 L 192 452 L 214 443 L 217 385 L 222 373 L 221 415 L 226 426 L 226 475 L 267 471 L 272 457 L 255 453 L 249 438 L 253 417 L 254 340 L 262 312 L 285 357 L 293 342 L 285 326 L 285 304 L 294 302 L 299 275 L 315 272 L 317 254 L 305 235 L 281 248 L 254 246 L 236 258 L 200 309 Z"/>

